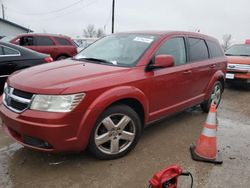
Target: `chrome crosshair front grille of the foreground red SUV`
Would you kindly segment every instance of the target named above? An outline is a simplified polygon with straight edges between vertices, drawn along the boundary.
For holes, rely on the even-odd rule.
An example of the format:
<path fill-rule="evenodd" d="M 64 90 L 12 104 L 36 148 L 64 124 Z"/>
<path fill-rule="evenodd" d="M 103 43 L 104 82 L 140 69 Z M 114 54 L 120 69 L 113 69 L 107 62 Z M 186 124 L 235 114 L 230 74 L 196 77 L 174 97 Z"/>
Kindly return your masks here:
<path fill-rule="evenodd" d="M 8 109 L 21 113 L 28 109 L 32 96 L 31 93 L 6 86 L 3 93 L 3 103 Z"/>

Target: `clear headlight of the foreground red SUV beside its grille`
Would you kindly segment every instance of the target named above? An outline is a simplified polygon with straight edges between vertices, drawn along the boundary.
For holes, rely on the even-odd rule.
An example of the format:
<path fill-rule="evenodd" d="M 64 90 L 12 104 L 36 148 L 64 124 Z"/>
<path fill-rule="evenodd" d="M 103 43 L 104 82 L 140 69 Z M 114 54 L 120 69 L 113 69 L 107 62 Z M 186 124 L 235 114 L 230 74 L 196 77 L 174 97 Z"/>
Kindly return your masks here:
<path fill-rule="evenodd" d="M 84 93 L 73 95 L 35 95 L 30 109 L 46 112 L 70 112 L 84 98 Z"/>

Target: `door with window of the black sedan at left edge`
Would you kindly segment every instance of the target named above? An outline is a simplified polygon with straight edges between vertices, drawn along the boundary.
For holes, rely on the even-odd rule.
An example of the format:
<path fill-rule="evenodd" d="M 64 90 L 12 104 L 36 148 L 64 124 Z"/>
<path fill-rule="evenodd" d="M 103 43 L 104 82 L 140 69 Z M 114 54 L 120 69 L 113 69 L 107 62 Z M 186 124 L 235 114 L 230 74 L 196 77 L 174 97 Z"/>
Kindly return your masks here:
<path fill-rule="evenodd" d="M 21 54 L 19 51 L 0 45 L 0 94 L 3 92 L 3 86 L 8 76 L 16 69 L 15 58 Z"/>

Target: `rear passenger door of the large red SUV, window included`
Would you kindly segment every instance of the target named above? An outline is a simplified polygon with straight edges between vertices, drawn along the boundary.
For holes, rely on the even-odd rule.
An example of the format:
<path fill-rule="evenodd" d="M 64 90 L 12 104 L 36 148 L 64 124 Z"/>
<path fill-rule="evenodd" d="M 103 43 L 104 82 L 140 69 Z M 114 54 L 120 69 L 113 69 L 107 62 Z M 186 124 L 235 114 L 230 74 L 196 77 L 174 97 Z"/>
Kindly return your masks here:
<path fill-rule="evenodd" d="M 202 100 L 209 81 L 216 72 L 215 61 L 209 59 L 206 41 L 202 38 L 188 37 L 189 64 L 192 66 L 192 91 L 197 100 Z"/>

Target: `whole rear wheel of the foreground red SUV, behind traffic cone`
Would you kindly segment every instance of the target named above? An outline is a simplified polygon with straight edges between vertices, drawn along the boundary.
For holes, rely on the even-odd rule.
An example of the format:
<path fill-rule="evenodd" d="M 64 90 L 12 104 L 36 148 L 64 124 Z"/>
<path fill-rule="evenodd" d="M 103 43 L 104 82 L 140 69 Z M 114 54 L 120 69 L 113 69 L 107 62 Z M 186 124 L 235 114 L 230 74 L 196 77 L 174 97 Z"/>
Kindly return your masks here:
<path fill-rule="evenodd" d="M 222 84 L 220 81 L 216 81 L 213 87 L 213 90 L 209 96 L 208 100 L 205 100 L 203 103 L 201 103 L 201 109 L 203 112 L 209 112 L 210 105 L 212 101 L 214 100 L 216 107 L 219 106 L 220 101 L 221 101 L 221 95 L 222 95 Z"/>

